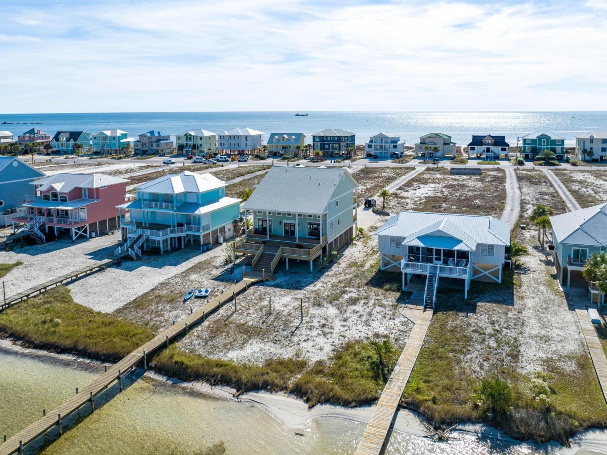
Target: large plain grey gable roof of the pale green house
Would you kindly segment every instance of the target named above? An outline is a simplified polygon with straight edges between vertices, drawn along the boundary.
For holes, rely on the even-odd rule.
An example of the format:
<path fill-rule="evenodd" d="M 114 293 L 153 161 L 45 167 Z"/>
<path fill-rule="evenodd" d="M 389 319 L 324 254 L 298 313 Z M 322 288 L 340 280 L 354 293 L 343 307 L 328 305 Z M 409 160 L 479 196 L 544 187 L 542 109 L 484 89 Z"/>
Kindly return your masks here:
<path fill-rule="evenodd" d="M 243 209 L 322 215 L 342 178 L 358 186 L 345 167 L 271 167 Z"/>

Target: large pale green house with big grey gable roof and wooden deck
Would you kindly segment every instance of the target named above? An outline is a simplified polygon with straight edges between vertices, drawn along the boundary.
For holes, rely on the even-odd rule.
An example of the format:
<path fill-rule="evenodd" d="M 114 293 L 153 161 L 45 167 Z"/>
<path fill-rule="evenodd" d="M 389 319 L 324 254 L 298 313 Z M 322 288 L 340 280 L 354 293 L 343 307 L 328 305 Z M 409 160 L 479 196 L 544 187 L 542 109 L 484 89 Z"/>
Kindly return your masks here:
<path fill-rule="evenodd" d="M 234 252 L 253 257 L 253 270 L 271 273 L 279 261 L 310 262 L 344 248 L 356 232 L 358 183 L 346 168 L 272 167 L 243 203 L 253 229 Z M 288 190 L 287 190 L 288 189 Z"/>

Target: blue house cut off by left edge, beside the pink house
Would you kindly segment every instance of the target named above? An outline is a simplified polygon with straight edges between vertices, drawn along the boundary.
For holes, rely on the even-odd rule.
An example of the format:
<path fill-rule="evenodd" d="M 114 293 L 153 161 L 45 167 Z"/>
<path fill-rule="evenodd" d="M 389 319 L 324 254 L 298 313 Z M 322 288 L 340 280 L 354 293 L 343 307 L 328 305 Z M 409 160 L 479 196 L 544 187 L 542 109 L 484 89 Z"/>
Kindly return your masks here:
<path fill-rule="evenodd" d="M 0 226 L 10 226 L 13 215 L 24 211 L 25 195 L 32 192 L 30 183 L 44 177 L 44 172 L 15 157 L 0 157 Z"/>

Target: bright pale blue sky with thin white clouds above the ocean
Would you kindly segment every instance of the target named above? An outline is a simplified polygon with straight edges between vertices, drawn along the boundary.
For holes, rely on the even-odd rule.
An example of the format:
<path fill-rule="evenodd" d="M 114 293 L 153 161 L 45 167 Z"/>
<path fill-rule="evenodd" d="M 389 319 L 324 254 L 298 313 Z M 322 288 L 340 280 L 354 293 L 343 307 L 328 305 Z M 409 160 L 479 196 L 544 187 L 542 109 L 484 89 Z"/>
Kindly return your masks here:
<path fill-rule="evenodd" d="M 0 0 L 0 113 L 607 110 L 607 0 Z"/>

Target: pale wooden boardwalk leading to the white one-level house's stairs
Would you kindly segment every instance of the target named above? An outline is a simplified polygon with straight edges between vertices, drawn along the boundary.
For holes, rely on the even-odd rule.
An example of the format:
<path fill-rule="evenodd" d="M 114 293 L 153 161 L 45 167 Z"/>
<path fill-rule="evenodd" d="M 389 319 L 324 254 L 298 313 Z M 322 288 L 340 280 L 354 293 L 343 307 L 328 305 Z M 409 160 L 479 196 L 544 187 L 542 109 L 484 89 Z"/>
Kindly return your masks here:
<path fill-rule="evenodd" d="M 356 455 L 377 455 L 384 450 L 386 436 L 401 400 L 402 391 L 407 385 L 409 375 L 426 337 L 430 319 L 432 319 L 432 311 L 420 312 L 416 318 L 415 325 L 409 334 L 409 339 L 407 339 L 407 345 L 402 350 L 390 379 L 388 379 L 384 391 L 379 397 L 375 409 L 373 409 L 371 419 L 356 449 Z"/>

